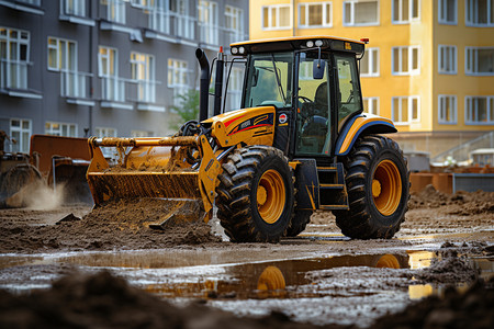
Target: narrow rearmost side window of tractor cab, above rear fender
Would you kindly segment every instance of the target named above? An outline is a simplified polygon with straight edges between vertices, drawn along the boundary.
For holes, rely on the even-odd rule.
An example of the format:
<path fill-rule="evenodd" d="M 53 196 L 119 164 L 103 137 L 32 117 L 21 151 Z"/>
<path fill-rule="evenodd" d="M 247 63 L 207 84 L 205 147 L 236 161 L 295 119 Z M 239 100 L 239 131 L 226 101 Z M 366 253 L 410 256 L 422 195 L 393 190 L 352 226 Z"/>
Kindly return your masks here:
<path fill-rule="evenodd" d="M 362 111 L 357 63 L 352 56 L 335 56 L 338 69 L 338 131 L 351 114 Z"/>

